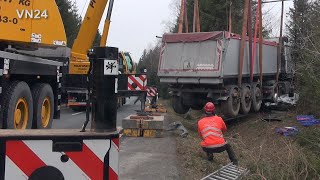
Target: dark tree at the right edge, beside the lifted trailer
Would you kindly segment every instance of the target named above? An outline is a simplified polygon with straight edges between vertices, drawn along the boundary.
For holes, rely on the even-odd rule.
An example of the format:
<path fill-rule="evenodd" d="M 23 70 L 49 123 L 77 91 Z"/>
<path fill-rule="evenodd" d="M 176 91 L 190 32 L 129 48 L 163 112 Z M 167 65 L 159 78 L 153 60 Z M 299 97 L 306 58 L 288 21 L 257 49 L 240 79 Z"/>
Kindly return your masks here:
<path fill-rule="evenodd" d="M 288 25 L 302 112 L 320 114 L 320 5 L 295 0 Z"/>

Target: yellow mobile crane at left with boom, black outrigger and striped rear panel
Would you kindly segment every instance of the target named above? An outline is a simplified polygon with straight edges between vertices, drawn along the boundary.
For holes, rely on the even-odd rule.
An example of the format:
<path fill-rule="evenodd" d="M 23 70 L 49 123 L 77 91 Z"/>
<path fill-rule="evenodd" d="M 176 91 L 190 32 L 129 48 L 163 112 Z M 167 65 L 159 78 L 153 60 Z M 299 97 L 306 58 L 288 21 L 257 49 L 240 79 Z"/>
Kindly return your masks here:
<path fill-rule="evenodd" d="M 55 0 L 0 0 L 0 180 L 118 179 L 116 127 L 118 48 L 88 53 L 92 123 L 82 130 L 25 130 L 51 127 L 59 118 L 62 61 L 71 74 L 88 74 L 87 51 L 108 0 L 91 0 L 71 56 Z M 113 63 L 105 70 L 104 63 Z M 89 114 L 89 111 L 88 113 Z M 32 162 L 32 163 L 30 163 Z"/>

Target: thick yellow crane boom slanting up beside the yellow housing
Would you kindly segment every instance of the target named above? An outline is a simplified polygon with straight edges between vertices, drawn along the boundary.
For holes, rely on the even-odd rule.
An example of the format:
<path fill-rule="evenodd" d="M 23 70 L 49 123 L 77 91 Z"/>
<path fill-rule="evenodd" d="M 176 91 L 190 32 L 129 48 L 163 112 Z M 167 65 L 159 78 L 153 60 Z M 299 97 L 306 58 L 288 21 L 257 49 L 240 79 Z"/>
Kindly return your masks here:
<path fill-rule="evenodd" d="M 71 49 L 70 74 L 87 74 L 89 61 L 87 51 L 91 48 L 108 0 L 90 0 L 86 16 Z"/>

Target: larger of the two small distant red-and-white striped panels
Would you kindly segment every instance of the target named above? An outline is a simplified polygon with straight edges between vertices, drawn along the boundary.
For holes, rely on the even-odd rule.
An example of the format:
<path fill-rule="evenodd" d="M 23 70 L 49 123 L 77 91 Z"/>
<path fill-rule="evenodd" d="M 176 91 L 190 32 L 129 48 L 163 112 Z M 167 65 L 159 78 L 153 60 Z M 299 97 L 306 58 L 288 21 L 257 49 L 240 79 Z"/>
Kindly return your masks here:
<path fill-rule="evenodd" d="M 129 75 L 128 76 L 128 90 L 144 91 L 147 86 L 147 75 Z"/>

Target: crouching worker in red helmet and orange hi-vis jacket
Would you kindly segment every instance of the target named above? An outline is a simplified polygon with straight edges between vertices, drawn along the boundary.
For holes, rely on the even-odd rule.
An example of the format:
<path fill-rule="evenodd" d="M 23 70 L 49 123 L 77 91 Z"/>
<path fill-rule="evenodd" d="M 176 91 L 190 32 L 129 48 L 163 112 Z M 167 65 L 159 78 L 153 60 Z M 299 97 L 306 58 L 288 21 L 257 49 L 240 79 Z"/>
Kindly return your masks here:
<path fill-rule="evenodd" d="M 227 131 L 223 119 L 215 114 L 215 106 L 208 102 L 204 107 L 206 117 L 198 121 L 198 133 L 202 138 L 201 147 L 208 155 L 208 160 L 213 160 L 213 153 L 227 151 L 229 159 L 234 165 L 238 164 L 235 153 L 230 144 L 223 138 L 222 132 Z"/>

